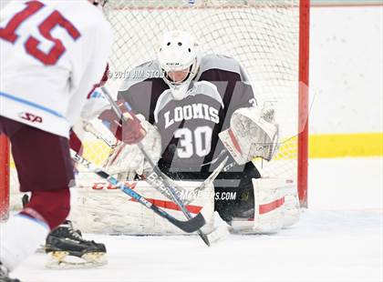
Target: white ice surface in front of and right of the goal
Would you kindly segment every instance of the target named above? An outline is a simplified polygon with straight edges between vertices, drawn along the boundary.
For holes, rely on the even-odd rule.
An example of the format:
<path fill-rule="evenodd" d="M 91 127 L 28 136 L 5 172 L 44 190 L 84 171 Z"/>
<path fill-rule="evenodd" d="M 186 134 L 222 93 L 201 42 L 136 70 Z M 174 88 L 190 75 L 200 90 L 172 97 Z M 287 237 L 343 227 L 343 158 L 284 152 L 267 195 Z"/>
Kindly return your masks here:
<path fill-rule="evenodd" d="M 310 160 L 309 209 L 273 236 L 230 236 L 205 247 L 198 237 L 109 237 L 109 264 L 48 270 L 35 254 L 23 282 L 382 281 L 382 158 Z"/>

